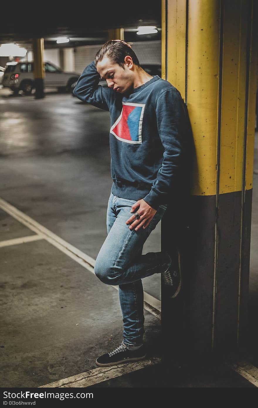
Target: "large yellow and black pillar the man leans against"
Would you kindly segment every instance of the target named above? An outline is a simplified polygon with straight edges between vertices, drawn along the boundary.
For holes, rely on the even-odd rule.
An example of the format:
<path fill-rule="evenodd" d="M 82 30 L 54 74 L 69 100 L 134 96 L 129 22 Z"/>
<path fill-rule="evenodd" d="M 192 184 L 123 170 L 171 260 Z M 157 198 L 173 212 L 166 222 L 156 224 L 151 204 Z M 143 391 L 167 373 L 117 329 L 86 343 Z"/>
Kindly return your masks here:
<path fill-rule="evenodd" d="M 178 344 L 197 355 L 245 346 L 257 27 L 254 0 L 162 0 L 162 75 L 187 105 L 195 150 L 188 232 L 171 239 L 173 214 L 161 220 L 183 275 L 162 321 L 170 339 L 183 321 Z"/>

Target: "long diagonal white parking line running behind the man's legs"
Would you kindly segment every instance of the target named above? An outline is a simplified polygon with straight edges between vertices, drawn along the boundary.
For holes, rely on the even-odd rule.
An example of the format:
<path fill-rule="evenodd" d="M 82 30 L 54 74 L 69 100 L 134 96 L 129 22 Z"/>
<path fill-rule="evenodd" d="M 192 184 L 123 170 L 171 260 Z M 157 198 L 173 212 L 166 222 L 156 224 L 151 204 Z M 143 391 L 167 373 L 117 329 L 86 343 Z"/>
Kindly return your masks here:
<path fill-rule="evenodd" d="M 34 231 L 37 235 L 46 239 L 46 241 L 48 241 L 50 244 L 52 244 L 60 251 L 68 255 L 70 258 L 75 260 L 78 264 L 82 265 L 88 271 L 94 273 L 95 259 L 86 255 L 84 252 L 80 251 L 75 246 L 69 244 L 64 239 L 60 238 L 58 235 L 55 235 L 52 231 L 45 228 L 43 225 L 39 224 L 37 221 L 33 220 L 33 218 L 22 213 L 22 211 L 18 210 L 18 208 L 12 206 L 2 198 L 0 198 L 0 208 L 2 208 L 2 210 L 11 215 L 13 218 L 15 218 L 15 220 L 18 220 L 21 224 L 25 225 L 31 231 Z M 118 286 L 112 287 L 118 290 Z M 159 299 L 155 299 L 153 296 L 149 295 L 146 292 L 143 293 L 143 296 L 144 296 L 143 298 L 144 308 L 148 310 L 148 312 L 150 312 L 152 315 L 160 319 L 161 301 Z"/>

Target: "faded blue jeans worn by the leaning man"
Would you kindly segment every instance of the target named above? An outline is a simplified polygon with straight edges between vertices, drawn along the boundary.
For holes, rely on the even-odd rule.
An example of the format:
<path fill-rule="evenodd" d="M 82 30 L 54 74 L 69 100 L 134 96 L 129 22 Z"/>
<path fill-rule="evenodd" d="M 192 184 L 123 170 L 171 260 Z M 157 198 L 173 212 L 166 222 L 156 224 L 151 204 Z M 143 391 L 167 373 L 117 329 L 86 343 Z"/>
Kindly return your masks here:
<path fill-rule="evenodd" d="M 108 235 L 95 261 L 94 272 L 101 282 L 119 286 L 119 300 L 123 316 L 123 341 L 128 345 L 143 344 L 145 333 L 143 315 L 143 286 L 141 279 L 166 271 L 170 257 L 165 252 L 142 255 L 143 245 L 163 217 L 168 205 L 157 209 L 147 228 L 135 231 L 126 225 L 131 206 L 136 200 L 127 200 L 110 194 L 107 209 Z M 135 210 L 137 211 L 137 210 Z"/>

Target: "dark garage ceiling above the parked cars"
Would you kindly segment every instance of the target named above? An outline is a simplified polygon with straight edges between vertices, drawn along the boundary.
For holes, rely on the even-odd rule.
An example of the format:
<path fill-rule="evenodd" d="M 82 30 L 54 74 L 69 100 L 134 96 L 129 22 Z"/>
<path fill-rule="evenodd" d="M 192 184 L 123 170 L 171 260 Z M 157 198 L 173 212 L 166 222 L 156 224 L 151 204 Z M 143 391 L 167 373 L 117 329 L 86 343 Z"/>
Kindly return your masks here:
<path fill-rule="evenodd" d="M 6 3 L 5 3 L 6 4 Z M 42 9 L 37 4 L 35 11 L 29 6 L 20 7 L 16 13 L 4 12 L 0 23 L 0 43 L 30 43 L 33 38 L 44 38 L 45 48 L 77 47 L 78 45 L 101 44 L 108 39 L 108 29 L 123 27 L 125 40 L 161 39 L 161 0 L 110 0 L 69 3 L 69 9 L 53 9 L 44 2 Z M 65 4 L 65 3 L 60 3 Z M 21 5 L 21 4 L 20 4 Z M 158 33 L 137 35 L 139 25 L 154 25 Z M 66 36 L 70 42 L 57 44 L 56 38 Z"/>

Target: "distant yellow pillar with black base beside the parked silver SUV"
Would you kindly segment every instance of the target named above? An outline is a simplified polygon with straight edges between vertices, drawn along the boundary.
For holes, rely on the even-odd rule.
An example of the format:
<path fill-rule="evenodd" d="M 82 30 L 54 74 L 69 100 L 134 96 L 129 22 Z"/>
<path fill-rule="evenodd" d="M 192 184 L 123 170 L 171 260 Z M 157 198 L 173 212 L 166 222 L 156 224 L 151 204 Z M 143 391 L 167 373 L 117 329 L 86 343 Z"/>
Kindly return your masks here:
<path fill-rule="evenodd" d="M 44 38 L 33 39 L 33 73 L 35 84 L 35 99 L 44 98 L 44 78 L 45 71 L 43 67 Z"/>

